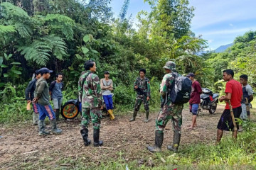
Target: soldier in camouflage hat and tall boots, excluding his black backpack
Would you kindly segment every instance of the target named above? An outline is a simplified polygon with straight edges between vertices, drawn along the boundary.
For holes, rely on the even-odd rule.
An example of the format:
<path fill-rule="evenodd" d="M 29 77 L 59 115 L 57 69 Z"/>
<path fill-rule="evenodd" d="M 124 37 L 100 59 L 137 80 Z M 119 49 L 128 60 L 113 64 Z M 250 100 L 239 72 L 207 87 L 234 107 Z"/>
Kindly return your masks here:
<path fill-rule="evenodd" d="M 176 74 L 176 77 L 181 76 L 181 74 L 177 73 L 175 62 L 166 62 L 164 69 L 167 74 L 164 75 L 160 85 L 162 108 L 158 118 L 156 119 L 155 145 L 154 147 L 147 147 L 150 152 L 161 152 L 161 145 L 163 144 L 164 140 L 164 128 L 170 119 L 173 123 L 174 142 L 172 146 L 168 146 L 167 148 L 171 151 L 177 152 L 178 145 L 181 140 L 181 113 L 183 104 L 171 103 L 171 98 L 169 96 L 169 91 L 171 91 L 171 84 L 174 81 L 172 74 Z"/>

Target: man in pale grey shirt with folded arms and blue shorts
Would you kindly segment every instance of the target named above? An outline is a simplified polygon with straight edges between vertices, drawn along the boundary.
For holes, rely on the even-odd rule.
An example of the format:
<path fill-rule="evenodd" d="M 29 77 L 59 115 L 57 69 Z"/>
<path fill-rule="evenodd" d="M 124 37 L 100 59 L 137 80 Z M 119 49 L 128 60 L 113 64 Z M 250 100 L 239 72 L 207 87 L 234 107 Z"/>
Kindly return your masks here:
<path fill-rule="evenodd" d="M 104 79 L 100 79 L 100 88 L 106 105 L 107 112 L 110 113 L 110 119 L 114 120 L 112 93 L 113 81 L 110 79 L 110 72 L 104 72 Z"/>

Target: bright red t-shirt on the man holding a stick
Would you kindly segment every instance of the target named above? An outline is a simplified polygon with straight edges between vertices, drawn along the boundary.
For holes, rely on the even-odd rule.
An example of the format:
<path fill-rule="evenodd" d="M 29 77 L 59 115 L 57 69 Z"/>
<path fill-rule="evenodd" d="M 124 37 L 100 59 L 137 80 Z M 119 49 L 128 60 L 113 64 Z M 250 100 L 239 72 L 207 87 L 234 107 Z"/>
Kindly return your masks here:
<path fill-rule="evenodd" d="M 240 82 L 232 79 L 227 82 L 225 87 L 225 93 L 231 94 L 230 103 L 232 108 L 238 108 L 241 106 L 242 101 L 242 85 Z M 230 109 L 228 106 L 228 102 L 226 102 L 225 109 Z"/>

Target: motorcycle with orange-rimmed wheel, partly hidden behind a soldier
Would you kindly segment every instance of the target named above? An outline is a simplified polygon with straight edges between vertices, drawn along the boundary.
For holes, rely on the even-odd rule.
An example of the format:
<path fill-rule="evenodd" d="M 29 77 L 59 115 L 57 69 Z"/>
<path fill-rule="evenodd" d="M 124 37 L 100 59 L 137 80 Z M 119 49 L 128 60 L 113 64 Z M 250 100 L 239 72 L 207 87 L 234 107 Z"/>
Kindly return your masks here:
<path fill-rule="evenodd" d="M 107 112 L 105 103 L 103 103 L 103 106 L 102 116 L 110 115 L 110 113 Z M 74 119 L 78 116 L 78 113 L 82 114 L 82 104 L 78 99 L 69 100 L 61 107 L 60 113 L 65 120 Z"/>

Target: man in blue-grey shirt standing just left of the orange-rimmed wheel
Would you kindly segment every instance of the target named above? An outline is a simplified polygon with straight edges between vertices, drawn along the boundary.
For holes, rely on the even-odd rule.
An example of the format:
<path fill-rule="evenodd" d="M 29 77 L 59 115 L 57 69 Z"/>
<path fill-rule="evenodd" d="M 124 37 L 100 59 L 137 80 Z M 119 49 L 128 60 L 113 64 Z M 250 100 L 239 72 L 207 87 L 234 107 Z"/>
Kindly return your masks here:
<path fill-rule="evenodd" d="M 60 108 L 63 101 L 63 94 L 61 91 L 63 91 L 63 74 L 58 73 L 55 75 L 56 80 L 52 81 L 50 83 L 49 87 L 49 94 L 51 98 L 53 99 L 53 111 L 56 114 L 56 120 L 59 120 L 60 118 Z"/>

